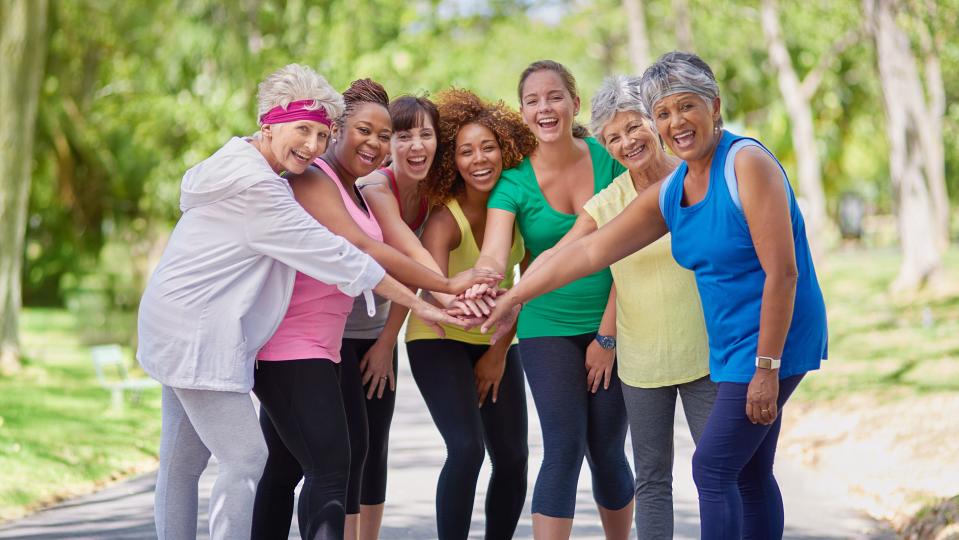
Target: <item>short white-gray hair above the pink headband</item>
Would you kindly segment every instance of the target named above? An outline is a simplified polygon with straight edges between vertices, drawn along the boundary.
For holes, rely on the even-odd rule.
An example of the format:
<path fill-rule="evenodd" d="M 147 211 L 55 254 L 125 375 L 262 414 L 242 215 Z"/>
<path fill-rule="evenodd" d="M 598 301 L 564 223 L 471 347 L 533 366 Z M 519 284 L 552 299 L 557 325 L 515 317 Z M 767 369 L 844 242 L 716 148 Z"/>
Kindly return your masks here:
<path fill-rule="evenodd" d="M 273 107 L 289 106 L 291 102 L 312 99 L 313 105 L 307 107 L 326 111 L 330 120 L 336 120 L 343 114 L 343 96 L 326 82 L 322 75 L 312 68 L 300 64 L 288 64 L 271 73 L 260 83 L 256 93 L 256 119 Z"/>

